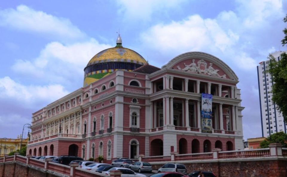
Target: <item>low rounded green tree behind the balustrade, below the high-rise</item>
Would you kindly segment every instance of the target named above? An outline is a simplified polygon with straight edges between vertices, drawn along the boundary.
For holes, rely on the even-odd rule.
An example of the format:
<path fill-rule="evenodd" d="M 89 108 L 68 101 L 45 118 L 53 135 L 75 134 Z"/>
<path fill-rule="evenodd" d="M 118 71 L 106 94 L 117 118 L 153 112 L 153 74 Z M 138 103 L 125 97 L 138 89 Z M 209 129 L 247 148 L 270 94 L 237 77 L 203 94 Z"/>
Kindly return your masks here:
<path fill-rule="evenodd" d="M 287 134 L 280 131 L 268 136 L 267 139 L 260 142 L 260 148 L 267 148 L 271 143 L 280 143 L 283 147 L 287 147 Z"/>

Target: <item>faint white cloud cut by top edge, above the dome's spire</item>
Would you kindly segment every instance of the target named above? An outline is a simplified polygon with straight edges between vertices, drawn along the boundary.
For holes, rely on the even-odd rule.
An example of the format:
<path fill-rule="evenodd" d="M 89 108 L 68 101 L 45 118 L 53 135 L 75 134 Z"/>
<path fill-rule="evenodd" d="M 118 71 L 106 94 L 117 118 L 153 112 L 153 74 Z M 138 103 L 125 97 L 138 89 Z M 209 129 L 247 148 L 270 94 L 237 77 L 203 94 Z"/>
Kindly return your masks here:
<path fill-rule="evenodd" d="M 150 20 L 152 14 L 160 10 L 175 9 L 186 0 L 145 0 L 131 1 L 119 0 L 118 13 L 123 14 L 126 19 Z"/>

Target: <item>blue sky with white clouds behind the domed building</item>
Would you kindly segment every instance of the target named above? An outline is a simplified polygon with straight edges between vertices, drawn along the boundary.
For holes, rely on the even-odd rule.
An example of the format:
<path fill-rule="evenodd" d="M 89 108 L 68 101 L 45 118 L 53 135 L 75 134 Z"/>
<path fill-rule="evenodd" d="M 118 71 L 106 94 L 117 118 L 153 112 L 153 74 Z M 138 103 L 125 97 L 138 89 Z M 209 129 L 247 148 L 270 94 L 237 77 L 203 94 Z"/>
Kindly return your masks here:
<path fill-rule="evenodd" d="M 281 46 L 286 1 L 118 0 L 0 2 L 0 137 L 83 85 L 103 49 L 123 46 L 161 67 L 184 52 L 210 53 L 239 77 L 244 139 L 261 136 L 257 64 Z M 25 137 L 27 136 L 25 130 Z"/>

